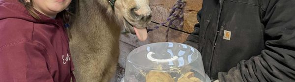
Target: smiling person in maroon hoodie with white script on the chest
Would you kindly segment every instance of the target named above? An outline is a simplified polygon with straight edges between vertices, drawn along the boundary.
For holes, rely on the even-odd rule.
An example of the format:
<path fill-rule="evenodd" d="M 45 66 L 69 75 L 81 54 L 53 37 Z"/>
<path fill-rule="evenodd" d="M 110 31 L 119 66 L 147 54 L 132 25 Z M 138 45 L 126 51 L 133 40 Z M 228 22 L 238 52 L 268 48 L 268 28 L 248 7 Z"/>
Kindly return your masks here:
<path fill-rule="evenodd" d="M 70 82 L 63 28 L 71 0 L 0 0 L 0 82 Z"/>

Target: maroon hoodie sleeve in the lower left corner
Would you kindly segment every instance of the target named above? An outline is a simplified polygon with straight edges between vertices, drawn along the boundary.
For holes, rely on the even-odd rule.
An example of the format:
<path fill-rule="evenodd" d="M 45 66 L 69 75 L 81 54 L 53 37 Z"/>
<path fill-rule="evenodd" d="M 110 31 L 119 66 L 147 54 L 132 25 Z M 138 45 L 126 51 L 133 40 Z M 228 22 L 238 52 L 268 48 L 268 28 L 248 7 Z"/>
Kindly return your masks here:
<path fill-rule="evenodd" d="M 44 47 L 17 41 L 0 47 L 0 82 L 53 82 Z"/>

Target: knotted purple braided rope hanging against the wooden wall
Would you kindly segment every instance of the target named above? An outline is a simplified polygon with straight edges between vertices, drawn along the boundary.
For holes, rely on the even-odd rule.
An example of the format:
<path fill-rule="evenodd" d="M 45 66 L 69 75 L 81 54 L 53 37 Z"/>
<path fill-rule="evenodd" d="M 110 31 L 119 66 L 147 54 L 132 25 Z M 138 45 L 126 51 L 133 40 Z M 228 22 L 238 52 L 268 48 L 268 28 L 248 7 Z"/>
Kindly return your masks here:
<path fill-rule="evenodd" d="M 168 41 L 168 33 L 169 33 L 169 28 L 170 26 L 173 24 L 174 21 L 176 20 L 179 20 L 181 23 L 179 26 L 175 25 L 176 28 L 182 28 L 183 27 L 183 10 L 184 10 L 184 6 L 186 4 L 186 1 L 185 0 L 177 0 L 173 6 L 173 8 L 171 9 L 170 11 L 170 15 L 169 17 L 166 19 L 165 22 L 157 25 L 154 27 L 154 29 L 148 29 L 147 31 L 150 32 L 150 31 L 153 31 L 155 29 L 158 29 L 159 27 L 165 25 L 167 22 L 169 22 L 169 24 L 167 25 L 168 29 L 166 30 L 166 41 Z"/>

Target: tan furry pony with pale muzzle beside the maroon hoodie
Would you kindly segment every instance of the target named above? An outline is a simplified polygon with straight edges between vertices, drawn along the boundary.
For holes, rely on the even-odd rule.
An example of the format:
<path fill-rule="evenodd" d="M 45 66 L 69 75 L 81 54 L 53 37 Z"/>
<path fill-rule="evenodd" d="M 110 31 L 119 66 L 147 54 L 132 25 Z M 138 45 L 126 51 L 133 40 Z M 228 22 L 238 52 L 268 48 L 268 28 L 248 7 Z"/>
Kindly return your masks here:
<path fill-rule="evenodd" d="M 70 51 L 77 82 L 108 82 L 116 71 L 119 35 L 123 23 L 134 31 L 150 22 L 148 0 L 76 0 L 76 18 L 70 28 Z M 128 21 L 128 22 L 127 22 Z"/>

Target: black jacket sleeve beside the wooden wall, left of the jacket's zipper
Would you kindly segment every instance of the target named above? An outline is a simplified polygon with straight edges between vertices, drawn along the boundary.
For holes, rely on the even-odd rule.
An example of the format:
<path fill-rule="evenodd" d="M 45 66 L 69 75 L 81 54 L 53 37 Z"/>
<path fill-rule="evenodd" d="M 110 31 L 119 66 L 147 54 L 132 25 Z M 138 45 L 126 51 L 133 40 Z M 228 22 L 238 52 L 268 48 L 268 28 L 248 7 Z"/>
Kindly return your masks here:
<path fill-rule="evenodd" d="M 201 21 L 201 13 L 202 9 L 197 14 L 198 21 Z M 188 35 L 186 41 L 184 41 L 184 44 L 193 46 L 194 48 L 198 49 L 199 47 L 199 32 L 200 32 L 200 23 L 196 23 L 194 26 L 194 31 Z"/>

